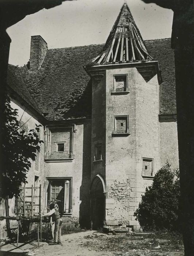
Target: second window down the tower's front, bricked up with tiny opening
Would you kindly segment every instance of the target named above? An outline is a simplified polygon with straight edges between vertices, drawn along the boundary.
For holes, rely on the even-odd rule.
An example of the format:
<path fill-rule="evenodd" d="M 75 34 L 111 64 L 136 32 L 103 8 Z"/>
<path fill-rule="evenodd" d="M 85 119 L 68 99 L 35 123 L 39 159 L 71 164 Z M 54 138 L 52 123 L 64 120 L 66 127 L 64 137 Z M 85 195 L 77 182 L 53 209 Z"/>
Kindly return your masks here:
<path fill-rule="evenodd" d="M 114 116 L 112 135 L 129 135 L 129 116 Z"/>

